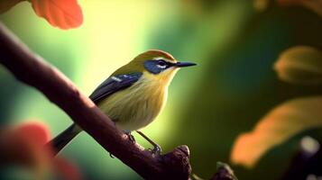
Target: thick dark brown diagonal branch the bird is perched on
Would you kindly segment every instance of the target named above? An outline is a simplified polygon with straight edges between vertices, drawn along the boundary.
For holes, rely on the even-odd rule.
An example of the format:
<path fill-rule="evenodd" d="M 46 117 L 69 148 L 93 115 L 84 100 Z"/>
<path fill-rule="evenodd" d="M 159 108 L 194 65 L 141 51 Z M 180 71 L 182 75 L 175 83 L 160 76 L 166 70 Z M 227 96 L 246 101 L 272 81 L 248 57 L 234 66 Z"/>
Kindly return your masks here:
<path fill-rule="evenodd" d="M 128 139 L 97 106 L 81 94 L 68 77 L 35 55 L 0 23 L 0 63 L 27 85 L 41 91 L 69 114 L 108 152 L 145 179 L 189 179 L 189 148 L 185 145 L 165 155 L 152 153 Z"/>

